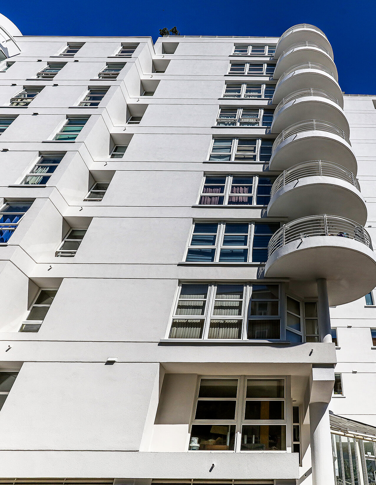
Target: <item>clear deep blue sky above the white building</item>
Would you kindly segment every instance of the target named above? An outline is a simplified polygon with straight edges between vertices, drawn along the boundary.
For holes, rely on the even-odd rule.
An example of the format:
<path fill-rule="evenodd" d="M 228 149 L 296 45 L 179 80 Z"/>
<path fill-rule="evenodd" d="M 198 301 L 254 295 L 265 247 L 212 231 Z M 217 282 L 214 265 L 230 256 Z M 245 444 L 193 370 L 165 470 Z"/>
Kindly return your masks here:
<path fill-rule="evenodd" d="M 376 94 L 375 0 L 17 0 L 0 12 L 26 35 L 279 36 L 306 22 L 322 29 L 347 94 Z"/>

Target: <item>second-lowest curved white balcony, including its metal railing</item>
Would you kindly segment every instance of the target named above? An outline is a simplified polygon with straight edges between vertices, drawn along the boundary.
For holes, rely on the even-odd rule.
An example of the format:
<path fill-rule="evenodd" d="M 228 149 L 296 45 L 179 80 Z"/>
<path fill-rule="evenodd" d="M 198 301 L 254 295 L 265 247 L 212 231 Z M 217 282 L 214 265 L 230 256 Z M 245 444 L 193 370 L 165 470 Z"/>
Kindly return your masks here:
<path fill-rule="evenodd" d="M 314 160 L 284 170 L 274 182 L 268 216 L 293 220 L 327 212 L 362 225 L 367 220 L 359 182 L 347 168 Z"/>

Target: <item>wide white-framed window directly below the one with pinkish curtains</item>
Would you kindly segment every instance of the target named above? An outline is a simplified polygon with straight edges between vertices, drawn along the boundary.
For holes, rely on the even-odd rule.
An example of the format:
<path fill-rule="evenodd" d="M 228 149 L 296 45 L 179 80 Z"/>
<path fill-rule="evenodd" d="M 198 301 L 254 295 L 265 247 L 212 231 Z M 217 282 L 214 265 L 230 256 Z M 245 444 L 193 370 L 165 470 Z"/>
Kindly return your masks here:
<path fill-rule="evenodd" d="M 196 222 L 186 261 L 265 262 L 268 243 L 279 223 Z"/>

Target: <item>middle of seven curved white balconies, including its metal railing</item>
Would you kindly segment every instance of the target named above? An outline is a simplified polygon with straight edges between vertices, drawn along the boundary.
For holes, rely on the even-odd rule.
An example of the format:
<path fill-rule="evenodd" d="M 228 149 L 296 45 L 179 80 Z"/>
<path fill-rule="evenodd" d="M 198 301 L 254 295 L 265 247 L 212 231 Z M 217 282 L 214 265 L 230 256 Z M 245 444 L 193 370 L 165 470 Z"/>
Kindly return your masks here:
<path fill-rule="evenodd" d="M 305 119 L 307 113 L 312 118 L 326 120 L 341 128 L 347 136 L 350 128 L 340 101 L 322 89 L 299 89 L 284 97 L 274 111 L 272 133 L 280 133 L 288 126 Z"/>

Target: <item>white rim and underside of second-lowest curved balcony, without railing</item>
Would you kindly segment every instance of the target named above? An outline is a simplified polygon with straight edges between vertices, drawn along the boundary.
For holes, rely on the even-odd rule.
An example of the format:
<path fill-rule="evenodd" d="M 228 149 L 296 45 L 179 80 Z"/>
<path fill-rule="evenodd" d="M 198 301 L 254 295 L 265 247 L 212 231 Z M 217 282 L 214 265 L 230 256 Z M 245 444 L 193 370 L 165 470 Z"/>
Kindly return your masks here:
<path fill-rule="evenodd" d="M 270 199 L 268 216 L 290 221 L 331 213 L 364 226 L 367 209 L 358 189 L 335 177 L 304 177 L 281 187 Z"/>

